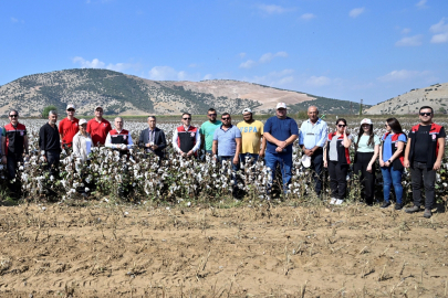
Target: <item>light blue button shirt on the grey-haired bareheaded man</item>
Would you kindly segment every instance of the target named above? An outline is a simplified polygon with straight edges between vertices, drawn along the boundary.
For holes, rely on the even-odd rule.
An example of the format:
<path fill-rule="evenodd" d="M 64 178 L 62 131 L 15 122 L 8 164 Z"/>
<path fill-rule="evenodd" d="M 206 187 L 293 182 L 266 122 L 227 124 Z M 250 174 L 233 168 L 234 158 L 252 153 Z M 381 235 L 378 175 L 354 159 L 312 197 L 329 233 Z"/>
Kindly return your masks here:
<path fill-rule="evenodd" d="M 321 118 L 317 118 L 314 125 L 310 119 L 303 121 L 300 127 L 299 145 L 304 145 L 305 149 L 313 149 L 315 146 L 323 148 L 327 137 L 326 130 L 326 123 Z"/>

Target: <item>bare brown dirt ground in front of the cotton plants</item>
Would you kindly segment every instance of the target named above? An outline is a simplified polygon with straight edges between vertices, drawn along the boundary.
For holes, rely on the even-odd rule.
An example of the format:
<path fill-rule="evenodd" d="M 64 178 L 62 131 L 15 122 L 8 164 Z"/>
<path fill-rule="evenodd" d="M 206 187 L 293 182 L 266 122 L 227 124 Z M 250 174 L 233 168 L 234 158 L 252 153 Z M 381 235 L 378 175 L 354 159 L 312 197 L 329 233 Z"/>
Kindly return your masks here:
<path fill-rule="evenodd" d="M 448 215 L 327 206 L 0 207 L 0 297 L 446 297 Z"/>

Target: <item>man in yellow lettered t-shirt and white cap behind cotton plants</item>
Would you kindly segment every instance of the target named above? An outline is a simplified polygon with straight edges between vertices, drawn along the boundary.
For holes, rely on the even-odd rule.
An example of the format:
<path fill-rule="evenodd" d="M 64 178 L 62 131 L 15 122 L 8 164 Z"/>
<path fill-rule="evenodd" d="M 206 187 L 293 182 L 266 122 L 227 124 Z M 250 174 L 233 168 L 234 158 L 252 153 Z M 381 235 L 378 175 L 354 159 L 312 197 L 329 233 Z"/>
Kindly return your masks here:
<path fill-rule="evenodd" d="M 240 162 L 246 163 L 247 159 L 257 161 L 259 157 L 264 157 L 265 140 L 263 138 L 263 123 L 252 118 L 252 110 L 242 110 L 243 120 L 237 127 L 241 131 Z"/>

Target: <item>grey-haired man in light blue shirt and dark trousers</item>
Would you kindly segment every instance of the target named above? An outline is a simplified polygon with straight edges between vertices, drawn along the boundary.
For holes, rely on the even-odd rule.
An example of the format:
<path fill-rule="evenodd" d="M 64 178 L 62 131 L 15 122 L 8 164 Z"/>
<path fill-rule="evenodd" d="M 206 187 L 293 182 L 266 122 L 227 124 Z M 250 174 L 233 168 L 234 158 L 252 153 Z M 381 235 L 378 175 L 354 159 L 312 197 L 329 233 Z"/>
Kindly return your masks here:
<path fill-rule="evenodd" d="M 323 147 L 326 142 L 327 126 L 319 118 L 319 109 L 315 106 L 308 108 L 309 119 L 302 123 L 299 135 L 299 146 L 305 156 L 311 158 L 310 168 L 313 170 L 314 191 L 321 195 L 322 191 L 322 166 Z"/>

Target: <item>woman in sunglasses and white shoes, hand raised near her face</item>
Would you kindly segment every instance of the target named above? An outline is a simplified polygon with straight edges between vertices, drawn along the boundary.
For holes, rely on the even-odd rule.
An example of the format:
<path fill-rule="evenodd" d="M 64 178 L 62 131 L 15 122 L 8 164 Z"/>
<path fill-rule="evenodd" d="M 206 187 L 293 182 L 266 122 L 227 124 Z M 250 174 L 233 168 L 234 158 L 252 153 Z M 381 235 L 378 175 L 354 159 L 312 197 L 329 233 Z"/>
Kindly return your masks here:
<path fill-rule="evenodd" d="M 350 167 L 350 151 L 352 136 L 347 131 L 344 118 L 336 120 L 336 131 L 329 134 L 324 150 L 324 167 L 329 168 L 331 201 L 330 204 L 340 205 L 344 202 L 347 190 L 347 171 Z"/>

